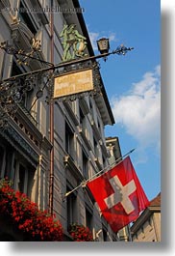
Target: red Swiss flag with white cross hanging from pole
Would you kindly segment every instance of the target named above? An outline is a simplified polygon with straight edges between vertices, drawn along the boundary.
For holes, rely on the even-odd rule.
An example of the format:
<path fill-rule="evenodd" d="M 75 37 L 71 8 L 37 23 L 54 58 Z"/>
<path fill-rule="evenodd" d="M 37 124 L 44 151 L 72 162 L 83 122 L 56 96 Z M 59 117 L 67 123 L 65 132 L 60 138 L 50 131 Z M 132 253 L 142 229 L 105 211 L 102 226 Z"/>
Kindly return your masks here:
<path fill-rule="evenodd" d="M 113 232 L 137 219 L 149 201 L 137 179 L 130 156 L 87 183 Z"/>

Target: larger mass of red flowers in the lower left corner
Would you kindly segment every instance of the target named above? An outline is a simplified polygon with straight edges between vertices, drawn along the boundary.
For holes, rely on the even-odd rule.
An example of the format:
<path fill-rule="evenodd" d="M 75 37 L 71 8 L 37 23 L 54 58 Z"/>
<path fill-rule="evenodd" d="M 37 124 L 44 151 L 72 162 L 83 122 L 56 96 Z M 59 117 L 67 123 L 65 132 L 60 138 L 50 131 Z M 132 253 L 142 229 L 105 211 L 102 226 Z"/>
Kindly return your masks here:
<path fill-rule="evenodd" d="M 19 230 L 34 241 L 63 241 L 63 228 L 55 216 L 39 211 L 36 203 L 19 191 L 12 183 L 0 180 L 0 213 L 9 217 Z"/>

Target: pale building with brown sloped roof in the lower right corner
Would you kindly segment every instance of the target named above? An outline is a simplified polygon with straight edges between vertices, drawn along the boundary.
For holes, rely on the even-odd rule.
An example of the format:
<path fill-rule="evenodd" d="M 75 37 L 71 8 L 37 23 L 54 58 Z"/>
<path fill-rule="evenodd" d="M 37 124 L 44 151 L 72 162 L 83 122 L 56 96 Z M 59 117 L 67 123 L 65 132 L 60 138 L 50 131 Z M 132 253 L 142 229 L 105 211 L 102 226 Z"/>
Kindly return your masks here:
<path fill-rule="evenodd" d="M 161 242 L 161 193 L 131 227 L 133 242 Z"/>

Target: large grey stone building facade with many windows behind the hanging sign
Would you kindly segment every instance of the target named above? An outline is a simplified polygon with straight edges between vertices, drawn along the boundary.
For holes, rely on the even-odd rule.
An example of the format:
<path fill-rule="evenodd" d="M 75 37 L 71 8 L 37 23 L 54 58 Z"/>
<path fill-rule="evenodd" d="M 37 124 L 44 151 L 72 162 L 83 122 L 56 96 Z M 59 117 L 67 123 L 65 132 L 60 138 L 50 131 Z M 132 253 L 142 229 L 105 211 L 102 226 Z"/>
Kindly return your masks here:
<path fill-rule="evenodd" d="M 52 178 L 52 210 L 63 225 L 65 241 L 70 240 L 67 230 L 74 222 L 87 226 L 95 241 L 117 241 L 86 187 L 65 196 L 110 164 L 104 128 L 113 125 L 114 120 L 100 73 L 100 94 L 87 94 L 73 100 L 56 99 L 51 113 L 48 99 L 53 80 L 50 73 L 45 75 L 43 70 L 50 62 L 54 65 L 62 62 L 60 34 L 63 25 L 76 24 L 79 33 L 87 38 L 87 55 L 94 54 L 79 2 L 55 0 L 54 12 L 51 12 L 51 2 L 0 1 L 1 45 L 8 43 L 24 52 L 38 47 L 34 56 L 40 60 L 20 62 L 15 54 L 0 49 L 0 80 L 15 76 L 14 83 L 17 81 L 21 88 L 27 88 L 15 111 L 6 109 L 7 105 L 3 107 L 3 93 L 0 92 L 0 178 L 12 180 L 13 188 L 26 193 L 40 210 L 49 208 Z M 18 79 L 18 75 L 33 71 L 38 72 Z M 8 104 L 11 107 L 11 100 Z M 50 125 L 51 118 L 54 127 Z M 53 142 L 50 139 L 52 130 Z M 51 152 L 54 154 L 53 177 L 50 176 Z"/>

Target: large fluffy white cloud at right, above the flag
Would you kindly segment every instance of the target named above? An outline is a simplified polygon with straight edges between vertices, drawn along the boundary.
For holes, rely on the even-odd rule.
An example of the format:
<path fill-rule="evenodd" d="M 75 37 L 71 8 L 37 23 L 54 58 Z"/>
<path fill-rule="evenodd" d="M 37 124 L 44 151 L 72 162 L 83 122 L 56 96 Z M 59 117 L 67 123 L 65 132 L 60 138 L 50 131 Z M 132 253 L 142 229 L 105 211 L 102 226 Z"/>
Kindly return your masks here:
<path fill-rule="evenodd" d="M 146 72 L 126 95 L 112 99 L 115 123 L 133 136 L 138 147 L 160 150 L 161 66 Z"/>

